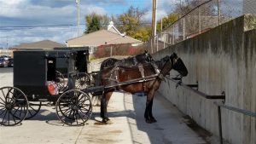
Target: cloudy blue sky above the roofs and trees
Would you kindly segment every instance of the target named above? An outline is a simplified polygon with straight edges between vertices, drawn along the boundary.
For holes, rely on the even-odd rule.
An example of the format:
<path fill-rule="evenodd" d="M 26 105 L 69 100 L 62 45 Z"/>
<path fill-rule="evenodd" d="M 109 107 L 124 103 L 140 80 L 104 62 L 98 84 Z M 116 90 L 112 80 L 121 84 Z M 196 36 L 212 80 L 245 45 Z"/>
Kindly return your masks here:
<path fill-rule="evenodd" d="M 148 9 L 143 20 L 152 17 L 152 0 L 80 0 L 80 33 L 76 0 L 0 0 L 0 48 L 45 39 L 65 43 L 85 31 L 86 14 L 124 14 L 130 6 Z M 171 13 L 175 0 L 158 0 L 157 18 Z"/>

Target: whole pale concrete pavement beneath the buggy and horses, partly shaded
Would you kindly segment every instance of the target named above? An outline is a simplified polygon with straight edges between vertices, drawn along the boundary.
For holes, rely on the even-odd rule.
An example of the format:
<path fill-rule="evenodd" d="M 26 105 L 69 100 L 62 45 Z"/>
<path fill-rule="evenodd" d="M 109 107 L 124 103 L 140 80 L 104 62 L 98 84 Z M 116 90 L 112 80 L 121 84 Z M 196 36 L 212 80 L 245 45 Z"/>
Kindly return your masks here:
<path fill-rule="evenodd" d="M 12 85 L 12 68 L 0 68 L 0 87 Z M 1 95 L 1 93 L 0 93 Z M 154 99 L 157 123 L 143 118 L 145 96 L 116 92 L 108 104 L 112 124 L 101 124 L 99 107 L 84 126 L 61 124 L 54 107 L 42 107 L 38 115 L 22 124 L 0 125 L 0 144 L 206 144 L 212 143 L 207 132 L 191 129 L 191 121 L 159 94 Z M 194 131 L 197 130 L 197 131 Z"/>

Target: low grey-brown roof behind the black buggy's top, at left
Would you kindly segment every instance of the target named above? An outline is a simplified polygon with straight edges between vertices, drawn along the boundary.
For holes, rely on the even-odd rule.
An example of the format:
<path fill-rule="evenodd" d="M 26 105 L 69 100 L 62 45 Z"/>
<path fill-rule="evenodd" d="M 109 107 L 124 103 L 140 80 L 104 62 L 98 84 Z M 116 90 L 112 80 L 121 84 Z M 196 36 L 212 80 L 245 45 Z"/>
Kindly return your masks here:
<path fill-rule="evenodd" d="M 55 47 L 65 47 L 65 44 L 43 40 L 34 43 L 21 43 L 20 45 L 15 45 L 12 49 L 53 49 Z"/>

